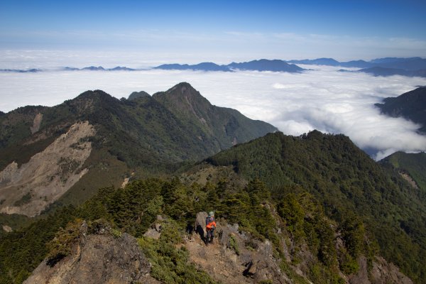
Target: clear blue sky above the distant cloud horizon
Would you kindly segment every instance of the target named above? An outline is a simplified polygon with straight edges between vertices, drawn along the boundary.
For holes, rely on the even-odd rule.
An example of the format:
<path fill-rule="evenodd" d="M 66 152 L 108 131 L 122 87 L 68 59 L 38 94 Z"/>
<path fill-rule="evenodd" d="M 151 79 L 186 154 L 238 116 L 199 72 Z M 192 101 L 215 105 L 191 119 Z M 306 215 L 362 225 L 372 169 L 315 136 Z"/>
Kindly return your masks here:
<path fill-rule="evenodd" d="M 426 57 L 426 1 L 0 1 L 0 49 L 175 60 Z M 171 56 L 170 56 L 171 55 Z"/>

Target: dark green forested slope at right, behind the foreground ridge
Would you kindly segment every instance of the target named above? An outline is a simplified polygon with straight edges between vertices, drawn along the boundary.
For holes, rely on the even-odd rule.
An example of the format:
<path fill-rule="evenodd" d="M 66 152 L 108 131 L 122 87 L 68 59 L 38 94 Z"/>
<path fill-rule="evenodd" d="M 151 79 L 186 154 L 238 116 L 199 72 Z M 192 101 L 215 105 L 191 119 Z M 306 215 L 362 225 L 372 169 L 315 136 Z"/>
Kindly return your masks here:
<path fill-rule="evenodd" d="M 388 261 L 398 265 L 415 283 L 426 282 L 422 264 L 426 258 L 426 196 L 413 190 L 397 173 L 375 163 L 346 136 L 319 131 L 300 137 L 273 133 L 206 161 L 211 165 L 231 165 L 247 180 L 263 180 L 275 199 L 288 193 L 309 192 L 320 202 L 326 216 L 339 224 L 345 224 L 351 213 L 356 214 L 362 225 L 348 224 L 346 228 L 353 230 L 354 236 L 344 236 L 350 243 L 347 253 L 351 256 L 341 258 L 349 266 L 346 271 L 357 269 L 355 258 L 362 247 L 359 234 L 366 229 L 377 239 L 380 252 Z M 292 208 L 285 214 L 290 232 L 295 239 L 300 238 L 306 234 L 300 229 L 302 209 L 291 197 L 285 202 L 286 207 Z M 370 250 L 374 251 L 373 244 Z"/>

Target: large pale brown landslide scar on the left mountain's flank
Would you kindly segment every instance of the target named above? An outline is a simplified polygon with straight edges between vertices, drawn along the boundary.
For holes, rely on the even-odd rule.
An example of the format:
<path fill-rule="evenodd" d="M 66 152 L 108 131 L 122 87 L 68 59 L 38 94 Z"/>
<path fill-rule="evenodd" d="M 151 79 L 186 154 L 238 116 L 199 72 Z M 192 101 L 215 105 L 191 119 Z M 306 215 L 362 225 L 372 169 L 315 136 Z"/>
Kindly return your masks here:
<path fill-rule="evenodd" d="M 94 133 L 87 121 L 74 124 L 20 168 L 17 163 L 9 164 L 0 172 L 0 200 L 4 200 L 0 212 L 33 217 L 58 200 L 87 173 L 82 165 L 92 143 L 84 138 Z"/>

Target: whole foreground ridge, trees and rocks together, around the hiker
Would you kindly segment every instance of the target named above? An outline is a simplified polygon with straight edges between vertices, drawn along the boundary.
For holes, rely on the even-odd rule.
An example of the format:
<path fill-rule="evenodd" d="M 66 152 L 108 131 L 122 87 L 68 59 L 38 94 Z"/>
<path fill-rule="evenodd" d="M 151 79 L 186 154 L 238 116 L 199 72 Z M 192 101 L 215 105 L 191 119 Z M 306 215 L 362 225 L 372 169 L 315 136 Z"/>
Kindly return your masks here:
<path fill-rule="evenodd" d="M 204 209 L 217 219 L 208 246 L 197 226 Z M 149 179 L 104 188 L 80 207 L 2 236 L 0 271 L 0 283 L 21 283 L 31 271 L 26 283 L 141 276 L 147 283 L 412 283 L 377 255 L 354 214 L 334 221 L 312 195 L 278 198 L 259 180 Z"/>

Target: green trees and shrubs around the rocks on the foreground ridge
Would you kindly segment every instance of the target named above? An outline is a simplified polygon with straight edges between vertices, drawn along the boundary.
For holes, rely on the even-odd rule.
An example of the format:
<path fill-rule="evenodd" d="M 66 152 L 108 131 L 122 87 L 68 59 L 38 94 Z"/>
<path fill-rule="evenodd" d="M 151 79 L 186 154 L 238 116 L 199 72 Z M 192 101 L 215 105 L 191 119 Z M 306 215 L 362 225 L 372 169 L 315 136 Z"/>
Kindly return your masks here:
<path fill-rule="evenodd" d="M 220 222 L 239 224 L 239 230 L 254 239 L 271 240 L 277 257 L 284 257 L 281 246 L 285 239 L 297 239 L 296 247 L 307 244 L 317 259 L 311 280 L 338 283 L 335 271 L 340 260 L 332 229 L 337 225 L 325 217 L 312 195 L 288 194 L 280 200 L 272 200 L 268 187 L 260 180 L 253 180 L 245 187 L 234 187 L 226 180 L 217 184 L 207 182 L 204 186 L 185 185 L 178 178 L 135 180 L 124 188 L 105 187 L 80 207 L 61 209 L 26 229 L 6 234 L 1 239 L 0 270 L 7 273 L 1 275 L 0 283 L 21 283 L 43 258 L 47 257 L 54 265 L 67 256 L 80 236 L 83 219 L 89 234 L 109 228 L 115 237 L 123 232 L 138 237 L 141 249 L 153 264 L 152 275 L 158 280 L 213 283 L 207 274 L 188 262 L 185 247 L 176 246 L 182 243 L 182 236 L 187 234 L 185 229 L 193 224 L 197 212 L 211 207 L 212 202 Z M 295 208 L 298 209 L 293 211 Z M 158 214 L 166 218 L 160 239 L 143 237 Z M 283 232 L 277 231 L 277 224 L 283 224 Z M 364 232 L 360 226 L 362 224 L 356 222 L 339 226 L 342 235 L 347 236 L 344 250 L 349 251 L 349 255 L 354 253 L 354 258 L 359 251 L 368 249 L 364 242 L 357 243 L 359 238 L 352 238 Z M 239 253 L 234 236 L 230 236 L 229 246 Z M 297 258 L 297 250 L 292 257 Z M 26 265 L 22 265 L 24 262 Z"/>

